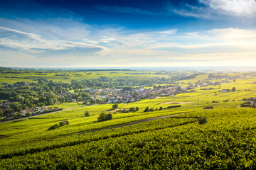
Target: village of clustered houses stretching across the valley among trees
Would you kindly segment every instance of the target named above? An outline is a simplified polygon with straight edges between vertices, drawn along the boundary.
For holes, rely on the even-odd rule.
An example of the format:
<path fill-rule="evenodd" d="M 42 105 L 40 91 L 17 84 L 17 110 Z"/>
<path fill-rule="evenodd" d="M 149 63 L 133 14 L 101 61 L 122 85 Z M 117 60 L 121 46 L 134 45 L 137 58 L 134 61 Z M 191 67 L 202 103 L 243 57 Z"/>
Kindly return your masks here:
<path fill-rule="evenodd" d="M 225 83 L 225 82 L 221 82 Z M 61 94 L 56 94 L 58 98 L 67 98 L 69 103 L 78 103 L 92 105 L 96 103 L 131 103 L 140 101 L 142 99 L 154 99 L 161 96 L 175 96 L 176 94 L 194 92 L 195 87 L 206 87 L 208 85 L 219 85 L 211 81 L 198 81 L 195 84 L 181 83 L 172 85 L 154 85 L 153 87 L 124 87 L 113 89 L 79 89 L 77 91 L 64 91 Z M 14 84 L 14 86 L 16 86 Z M 82 95 L 81 95 L 82 94 Z M 51 106 L 37 106 L 34 108 L 23 108 L 20 111 L 11 109 L 10 101 L 0 103 L 0 111 L 5 113 L 4 120 L 10 120 L 17 117 L 37 115 L 42 113 L 50 113 L 53 111 L 60 111 L 63 108 Z M 58 103 L 54 103 L 58 104 Z M 6 113 L 9 112 L 9 113 Z"/>

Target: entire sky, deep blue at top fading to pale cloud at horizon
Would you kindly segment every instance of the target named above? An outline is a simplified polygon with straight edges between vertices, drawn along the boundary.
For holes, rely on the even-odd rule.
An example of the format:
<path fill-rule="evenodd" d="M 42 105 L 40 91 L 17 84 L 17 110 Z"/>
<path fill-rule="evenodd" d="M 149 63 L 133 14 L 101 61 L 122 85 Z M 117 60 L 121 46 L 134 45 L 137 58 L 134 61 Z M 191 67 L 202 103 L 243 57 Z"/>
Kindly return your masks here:
<path fill-rule="evenodd" d="M 0 67 L 256 66 L 255 0 L 1 0 Z"/>

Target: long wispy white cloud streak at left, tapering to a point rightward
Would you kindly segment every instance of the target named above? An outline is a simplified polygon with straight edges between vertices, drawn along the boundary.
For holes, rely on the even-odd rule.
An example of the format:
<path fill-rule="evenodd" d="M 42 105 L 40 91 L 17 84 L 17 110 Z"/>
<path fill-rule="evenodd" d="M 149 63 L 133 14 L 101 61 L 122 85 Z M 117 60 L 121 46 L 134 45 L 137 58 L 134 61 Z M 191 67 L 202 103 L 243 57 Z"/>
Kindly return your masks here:
<path fill-rule="evenodd" d="M 27 50 L 28 52 L 45 52 L 46 50 L 87 50 L 87 52 L 100 52 L 107 50 L 106 47 L 100 45 L 65 40 L 47 40 L 40 35 L 4 27 L 0 27 L 0 45 L 1 47 Z"/>

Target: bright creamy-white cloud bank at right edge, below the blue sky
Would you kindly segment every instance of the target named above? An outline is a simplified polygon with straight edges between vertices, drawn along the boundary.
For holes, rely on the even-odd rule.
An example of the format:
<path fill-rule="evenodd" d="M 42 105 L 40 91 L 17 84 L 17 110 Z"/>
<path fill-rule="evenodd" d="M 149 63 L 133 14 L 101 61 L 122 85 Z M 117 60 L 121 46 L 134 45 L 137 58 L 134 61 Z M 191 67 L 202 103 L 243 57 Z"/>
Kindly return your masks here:
<path fill-rule="evenodd" d="M 183 48 L 186 50 L 206 49 L 215 47 L 218 51 L 223 48 L 234 50 L 256 51 L 256 31 L 238 28 L 211 29 L 198 32 L 185 33 L 176 37 L 183 43 L 164 42 L 149 47 L 149 49 Z M 175 40 L 174 40 L 175 41 Z"/>

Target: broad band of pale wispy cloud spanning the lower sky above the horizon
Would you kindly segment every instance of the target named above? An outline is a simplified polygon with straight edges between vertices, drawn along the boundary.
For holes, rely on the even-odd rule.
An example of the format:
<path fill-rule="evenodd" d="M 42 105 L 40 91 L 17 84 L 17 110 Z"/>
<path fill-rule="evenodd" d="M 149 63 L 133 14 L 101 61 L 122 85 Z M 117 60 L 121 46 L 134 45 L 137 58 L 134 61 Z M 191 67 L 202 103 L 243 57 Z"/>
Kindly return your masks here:
<path fill-rule="evenodd" d="M 82 23 L 77 26 L 78 30 L 84 28 Z M 20 67 L 33 66 L 33 63 L 48 66 L 43 56 L 50 57 L 53 66 L 60 67 L 256 64 L 255 30 L 225 28 L 182 33 L 176 28 L 145 31 L 111 26 L 104 29 L 86 27 L 87 34 L 81 38 L 79 33 L 68 35 L 65 30 L 50 39 L 44 31 L 24 31 L 26 26 L 21 27 L 22 31 L 2 26 L 1 61 Z M 65 33 L 67 37 L 75 34 L 74 40 L 65 40 Z"/>

